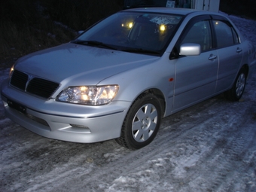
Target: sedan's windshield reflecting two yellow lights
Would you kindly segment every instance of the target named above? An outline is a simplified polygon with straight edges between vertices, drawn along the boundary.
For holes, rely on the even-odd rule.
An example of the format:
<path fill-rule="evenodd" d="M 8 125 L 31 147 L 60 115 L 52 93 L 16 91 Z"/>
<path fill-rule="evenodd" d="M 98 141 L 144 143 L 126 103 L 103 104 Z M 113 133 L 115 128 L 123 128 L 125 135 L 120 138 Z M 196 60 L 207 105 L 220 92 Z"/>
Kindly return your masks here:
<path fill-rule="evenodd" d="M 163 53 L 182 17 L 172 14 L 120 12 L 102 20 L 74 43 L 136 53 Z"/>

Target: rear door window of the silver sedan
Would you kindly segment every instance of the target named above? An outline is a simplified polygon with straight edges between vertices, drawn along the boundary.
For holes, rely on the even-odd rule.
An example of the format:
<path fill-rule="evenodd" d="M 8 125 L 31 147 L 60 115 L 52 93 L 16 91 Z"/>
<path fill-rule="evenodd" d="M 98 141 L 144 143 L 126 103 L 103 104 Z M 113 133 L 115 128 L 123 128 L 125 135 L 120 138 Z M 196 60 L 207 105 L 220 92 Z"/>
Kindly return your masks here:
<path fill-rule="evenodd" d="M 219 48 L 239 44 L 239 37 L 232 26 L 221 20 L 213 20 L 213 22 Z"/>

